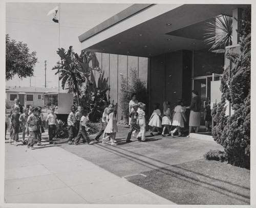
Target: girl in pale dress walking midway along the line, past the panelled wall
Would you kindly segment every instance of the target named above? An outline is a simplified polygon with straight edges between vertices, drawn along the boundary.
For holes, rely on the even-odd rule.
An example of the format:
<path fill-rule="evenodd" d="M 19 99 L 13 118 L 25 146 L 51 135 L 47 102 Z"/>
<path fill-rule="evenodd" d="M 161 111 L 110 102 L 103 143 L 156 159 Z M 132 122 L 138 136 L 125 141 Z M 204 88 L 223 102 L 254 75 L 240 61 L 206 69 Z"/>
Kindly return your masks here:
<path fill-rule="evenodd" d="M 108 144 L 108 143 L 106 143 L 106 140 L 108 138 L 111 138 L 111 145 L 114 146 L 114 145 L 116 145 L 115 137 L 116 137 L 116 132 L 118 132 L 118 129 L 117 129 L 117 125 L 116 125 L 116 117 L 115 117 L 113 107 L 109 107 L 108 114 L 109 114 L 109 122 L 106 125 L 105 131 L 104 131 L 104 134 L 106 133 L 107 136 L 102 138 L 102 143 Z"/>

